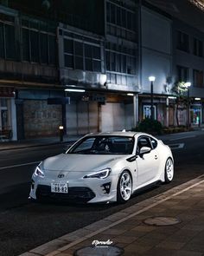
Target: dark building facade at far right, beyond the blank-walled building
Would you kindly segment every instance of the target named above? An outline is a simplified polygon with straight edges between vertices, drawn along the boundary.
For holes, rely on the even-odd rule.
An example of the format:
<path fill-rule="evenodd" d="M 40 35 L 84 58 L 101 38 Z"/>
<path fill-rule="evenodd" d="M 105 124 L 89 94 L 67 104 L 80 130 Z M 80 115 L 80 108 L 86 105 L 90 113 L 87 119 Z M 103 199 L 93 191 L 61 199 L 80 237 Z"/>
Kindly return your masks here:
<path fill-rule="evenodd" d="M 180 109 L 179 121 L 186 125 L 203 123 L 204 99 L 204 34 L 178 19 L 173 23 L 174 81 L 191 82 L 186 93 L 189 109 Z M 189 113 L 187 113 L 189 111 Z"/>

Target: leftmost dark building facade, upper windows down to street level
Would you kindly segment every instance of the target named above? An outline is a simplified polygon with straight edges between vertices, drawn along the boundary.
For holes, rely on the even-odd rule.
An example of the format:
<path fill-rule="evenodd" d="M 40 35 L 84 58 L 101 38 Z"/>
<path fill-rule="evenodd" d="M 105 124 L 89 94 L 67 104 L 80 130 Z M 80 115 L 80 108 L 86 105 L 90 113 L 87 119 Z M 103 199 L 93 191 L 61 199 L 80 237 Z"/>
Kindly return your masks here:
<path fill-rule="evenodd" d="M 0 130 L 20 140 L 55 135 L 61 109 L 48 105 L 58 91 L 56 24 L 0 8 Z M 50 120 L 52 122 L 50 122 Z"/>

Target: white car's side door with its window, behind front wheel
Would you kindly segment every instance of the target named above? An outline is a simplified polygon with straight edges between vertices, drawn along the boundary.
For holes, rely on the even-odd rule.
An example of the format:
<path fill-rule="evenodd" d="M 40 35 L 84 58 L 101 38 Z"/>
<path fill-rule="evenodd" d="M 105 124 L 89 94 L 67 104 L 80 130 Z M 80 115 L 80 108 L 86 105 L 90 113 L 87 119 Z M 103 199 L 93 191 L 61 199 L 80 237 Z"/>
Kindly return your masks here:
<path fill-rule="evenodd" d="M 159 170 L 159 155 L 156 148 L 157 141 L 149 136 L 140 136 L 137 139 L 137 187 L 154 181 Z M 139 155 L 142 147 L 151 148 L 150 153 Z"/>

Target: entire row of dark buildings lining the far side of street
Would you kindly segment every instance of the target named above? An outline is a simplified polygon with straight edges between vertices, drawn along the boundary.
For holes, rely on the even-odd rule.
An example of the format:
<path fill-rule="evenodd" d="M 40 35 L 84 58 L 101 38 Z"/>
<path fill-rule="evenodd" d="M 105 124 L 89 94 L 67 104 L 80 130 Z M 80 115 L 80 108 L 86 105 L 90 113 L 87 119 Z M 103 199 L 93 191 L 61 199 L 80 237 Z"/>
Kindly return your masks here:
<path fill-rule="evenodd" d="M 60 125 L 67 135 L 131 129 L 151 99 L 154 118 L 176 125 L 179 81 L 191 82 L 180 124 L 204 121 L 203 30 L 173 16 L 174 4 L 0 3 L 0 140 L 58 135 Z"/>

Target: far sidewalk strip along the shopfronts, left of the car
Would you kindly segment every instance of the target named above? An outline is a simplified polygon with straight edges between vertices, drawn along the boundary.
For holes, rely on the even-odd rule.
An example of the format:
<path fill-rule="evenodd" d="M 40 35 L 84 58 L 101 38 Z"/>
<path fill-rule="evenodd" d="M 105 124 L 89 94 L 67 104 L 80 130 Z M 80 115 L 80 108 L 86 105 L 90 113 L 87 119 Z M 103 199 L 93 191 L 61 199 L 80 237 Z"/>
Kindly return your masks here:
<path fill-rule="evenodd" d="M 0 141 L 0 151 L 17 149 L 17 148 L 32 148 L 45 145 L 54 145 L 61 143 L 70 143 L 79 140 L 83 135 L 66 135 L 63 138 L 63 141 L 60 141 L 59 137 L 45 137 L 37 139 L 29 139 L 22 141 Z"/>

